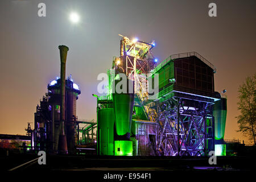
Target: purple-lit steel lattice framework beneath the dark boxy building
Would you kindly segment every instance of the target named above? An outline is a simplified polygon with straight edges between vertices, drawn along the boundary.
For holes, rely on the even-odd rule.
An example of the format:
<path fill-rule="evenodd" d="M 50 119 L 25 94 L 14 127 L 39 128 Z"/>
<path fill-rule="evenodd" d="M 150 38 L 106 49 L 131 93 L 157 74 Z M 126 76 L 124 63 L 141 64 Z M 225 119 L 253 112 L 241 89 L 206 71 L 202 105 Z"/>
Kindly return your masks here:
<path fill-rule="evenodd" d="M 156 105 L 159 134 L 156 153 L 204 156 L 212 148 L 212 106 L 208 102 L 172 97 Z"/>

